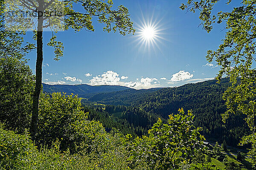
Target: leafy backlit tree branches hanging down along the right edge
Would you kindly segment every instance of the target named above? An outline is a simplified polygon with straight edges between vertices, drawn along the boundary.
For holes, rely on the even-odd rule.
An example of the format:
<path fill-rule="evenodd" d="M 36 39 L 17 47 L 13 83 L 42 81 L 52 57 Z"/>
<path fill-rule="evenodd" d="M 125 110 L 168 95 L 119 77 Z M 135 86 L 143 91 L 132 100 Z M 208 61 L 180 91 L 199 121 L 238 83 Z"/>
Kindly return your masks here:
<path fill-rule="evenodd" d="M 214 23 L 212 21 L 216 19 L 211 11 L 218 1 L 201 0 L 199 3 L 189 0 L 187 4 L 182 4 L 181 8 L 193 12 L 200 10 L 199 18 L 204 25 L 203 28 L 209 32 Z M 228 0 L 228 3 L 230 2 L 231 0 Z M 241 0 L 241 6 L 233 8 L 232 11 L 218 12 L 218 23 L 224 21 L 226 24 L 225 39 L 216 51 L 207 51 L 207 60 L 212 62 L 215 59 L 221 66 L 216 79 L 220 80 L 223 75 L 227 75 L 232 83 L 223 95 L 227 105 L 227 111 L 222 115 L 223 121 L 225 122 L 232 114 L 243 114 L 251 129 L 251 135 L 245 135 L 240 144 L 253 143 L 256 133 L 255 11 L 256 1 Z M 255 152 L 256 147 L 251 147 L 249 153 Z"/>

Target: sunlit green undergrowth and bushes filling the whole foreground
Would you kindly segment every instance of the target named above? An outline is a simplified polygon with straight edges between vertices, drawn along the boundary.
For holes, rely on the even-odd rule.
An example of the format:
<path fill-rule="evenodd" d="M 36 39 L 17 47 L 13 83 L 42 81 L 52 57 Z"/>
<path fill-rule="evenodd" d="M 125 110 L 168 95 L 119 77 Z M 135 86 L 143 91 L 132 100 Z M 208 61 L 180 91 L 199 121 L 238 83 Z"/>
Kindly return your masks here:
<path fill-rule="evenodd" d="M 2 83 L 0 92 L 4 96 L 0 102 L 0 170 L 217 170 L 221 168 L 212 165 L 216 162 L 207 161 L 209 153 L 202 143 L 204 141 L 204 136 L 200 134 L 202 129 L 195 127 L 195 117 L 192 112 L 185 113 L 183 109 L 177 114 L 171 114 L 167 121 L 156 120 L 145 135 L 132 137 L 131 134 L 124 134 L 113 127 L 106 131 L 101 122 L 91 119 L 93 115 L 99 114 L 89 114 L 89 112 L 96 110 L 83 108 L 81 98 L 78 96 L 42 93 L 39 101 L 38 131 L 35 140 L 31 141 L 27 131 L 31 121 L 31 110 L 23 110 L 23 106 L 18 101 L 23 101 L 25 95 L 26 100 L 23 103 L 26 107 L 31 107 L 32 88 L 29 87 L 34 85 L 34 77 L 29 70 L 19 72 L 23 75 L 17 76 L 14 68 L 25 69 L 27 67 L 25 61 L 0 58 L 0 62 L 0 72 L 5 72 L 0 75 L 9 75 L 7 82 L 2 81 L 6 76 L 0 76 Z M 9 83 L 12 84 L 10 86 L 12 88 L 5 91 L 9 88 Z M 20 84 L 23 88 L 16 88 Z M 132 115 L 133 111 L 127 110 L 123 116 L 131 118 L 129 115 Z M 134 118 L 145 117 L 151 122 L 155 119 L 140 109 L 138 111 L 141 114 L 134 114 Z M 136 119 L 128 119 L 128 121 L 134 120 Z M 140 122 L 133 123 L 140 125 Z M 125 122 L 118 123 L 119 128 L 122 128 L 122 124 L 125 125 Z M 219 154 L 219 151 L 215 151 L 211 157 L 222 161 Z M 230 162 L 233 161 L 228 161 L 226 167 L 236 167 L 236 164 L 233 166 Z"/>

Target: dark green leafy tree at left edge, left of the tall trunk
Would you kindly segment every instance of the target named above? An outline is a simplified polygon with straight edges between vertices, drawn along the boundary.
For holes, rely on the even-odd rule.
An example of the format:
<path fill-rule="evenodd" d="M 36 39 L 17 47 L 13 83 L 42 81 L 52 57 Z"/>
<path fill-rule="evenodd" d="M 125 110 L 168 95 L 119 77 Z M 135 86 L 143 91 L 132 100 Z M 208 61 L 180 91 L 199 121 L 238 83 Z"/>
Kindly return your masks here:
<path fill-rule="evenodd" d="M 35 77 L 26 60 L 0 57 L 0 122 L 23 132 L 31 119 Z"/>

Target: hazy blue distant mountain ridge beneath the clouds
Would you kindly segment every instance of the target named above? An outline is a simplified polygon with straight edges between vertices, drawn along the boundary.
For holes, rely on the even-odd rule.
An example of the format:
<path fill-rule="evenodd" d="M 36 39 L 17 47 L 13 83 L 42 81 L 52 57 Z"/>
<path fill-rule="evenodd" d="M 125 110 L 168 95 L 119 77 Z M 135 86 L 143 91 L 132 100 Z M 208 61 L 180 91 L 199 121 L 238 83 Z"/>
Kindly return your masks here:
<path fill-rule="evenodd" d="M 78 94 L 79 97 L 87 98 L 93 96 L 94 94 L 99 93 L 107 93 L 114 91 L 124 91 L 131 90 L 132 88 L 128 88 L 120 85 L 48 85 L 43 83 L 43 91 L 45 93 L 53 93 L 53 92 L 64 92 L 67 94 Z M 134 90 L 134 89 L 132 89 Z"/>

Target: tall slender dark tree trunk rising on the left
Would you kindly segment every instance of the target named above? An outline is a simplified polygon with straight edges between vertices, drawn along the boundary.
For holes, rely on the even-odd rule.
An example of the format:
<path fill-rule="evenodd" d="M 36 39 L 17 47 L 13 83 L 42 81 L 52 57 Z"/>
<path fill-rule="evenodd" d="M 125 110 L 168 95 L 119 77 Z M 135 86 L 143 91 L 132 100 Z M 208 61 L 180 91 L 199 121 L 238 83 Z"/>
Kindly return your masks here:
<path fill-rule="evenodd" d="M 43 64 L 43 17 L 39 16 L 38 13 L 38 28 L 37 28 L 37 58 L 35 65 L 35 91 L 33 94 L 32 104 L 32 119 L 30 124 L 30 134 L 32 140 L 35 139 L 38 123 L 38 106 L 39 97 L 42 86 L 42 64 Z"/>

